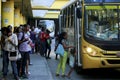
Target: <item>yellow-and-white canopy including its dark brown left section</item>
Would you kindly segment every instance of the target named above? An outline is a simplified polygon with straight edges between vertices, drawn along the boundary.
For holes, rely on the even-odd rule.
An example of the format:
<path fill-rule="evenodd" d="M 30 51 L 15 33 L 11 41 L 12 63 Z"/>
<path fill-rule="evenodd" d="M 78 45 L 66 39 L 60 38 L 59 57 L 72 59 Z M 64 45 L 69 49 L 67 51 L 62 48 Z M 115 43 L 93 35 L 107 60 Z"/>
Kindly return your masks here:
<path fill-rule="evenodd" d="M 10 0 L 2 0 L 7 1 Z M 71 0 L 14 0 L 14 8 L 19 9 L 26 18 L 58 18 L 60 9 L 69 1 Z"/>

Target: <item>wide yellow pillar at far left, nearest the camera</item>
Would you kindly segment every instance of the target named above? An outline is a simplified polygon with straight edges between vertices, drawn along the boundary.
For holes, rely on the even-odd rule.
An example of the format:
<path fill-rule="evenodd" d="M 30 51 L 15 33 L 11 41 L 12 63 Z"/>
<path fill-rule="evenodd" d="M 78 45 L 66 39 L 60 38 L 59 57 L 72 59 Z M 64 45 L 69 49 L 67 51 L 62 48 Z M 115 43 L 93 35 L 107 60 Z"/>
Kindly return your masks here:
<path fill-rule="evenodd" d="M 14 27 L 14 0 L 2 3 L 2 27 Z"/>

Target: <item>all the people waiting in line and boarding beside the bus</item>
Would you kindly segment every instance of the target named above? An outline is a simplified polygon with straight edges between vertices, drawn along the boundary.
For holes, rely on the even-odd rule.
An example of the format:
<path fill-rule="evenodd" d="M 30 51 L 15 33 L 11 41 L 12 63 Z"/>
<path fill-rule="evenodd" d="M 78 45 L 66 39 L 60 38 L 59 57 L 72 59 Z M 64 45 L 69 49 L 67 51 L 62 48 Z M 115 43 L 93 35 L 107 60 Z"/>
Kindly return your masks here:
<path fill-rule="evenodd" d="M 57 44 L 55 45 L 55 51 L 58 47 L 58 44 L 61 44 L 64 48 L 64 55 L 60 56 L 59 64 L 56 70 L 56 76 L 59 76 L 60 69 L 62 69 L 62 77 L 70 77 L 75 62 L 75 49 L 73 46 L 69 46 L 67 41 L 67 33 L 62 32 L 57 35 L 56 40 Z M 12 26 L 3 27 L 2 28 L 2 37 L 1 37 L 1 46 L 2 46 L 2 55 L 3 55 L 3 80 L 6 80 L 8 73 L 8 64 L 9 64 L 9 53 L 13 52 L 18 48 L 22 58 L 16 61 L 11 61 L 11 66 L 13 70 L 13 75 L 15 80 L 19 80 L 19 77 L 28 79 L 29 75 L 29 64 L 30 54 L 39 52 L 41 56 L 46 59 L 50 58 L 51 52 L 51 37 L 50 31 L 45 27 L 41 27 L 41 30 L 36 29 L 35 27 L 31 27 L 30 25 L 25 24 L 21 25 L 18 28 L 13 29 Z M 65 75 L 66 62 L 69 55 L 69 49 L 71 49 L 70 53 L 70 66 L 71 69 L 67 75 Z M 57 56 L 56 56 L 57 59 Z"/>

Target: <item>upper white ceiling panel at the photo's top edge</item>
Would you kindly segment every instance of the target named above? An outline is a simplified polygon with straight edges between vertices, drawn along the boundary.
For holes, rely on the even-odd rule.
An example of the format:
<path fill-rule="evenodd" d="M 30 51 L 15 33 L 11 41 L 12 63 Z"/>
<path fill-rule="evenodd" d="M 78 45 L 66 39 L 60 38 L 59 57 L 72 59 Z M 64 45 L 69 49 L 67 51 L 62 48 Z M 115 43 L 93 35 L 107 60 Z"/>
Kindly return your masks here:
<path fill-rule="evenodd" d="M 31 0 L 31 5 L 33 6 L 46 6 L 51 7 L 55 0 Z"/>

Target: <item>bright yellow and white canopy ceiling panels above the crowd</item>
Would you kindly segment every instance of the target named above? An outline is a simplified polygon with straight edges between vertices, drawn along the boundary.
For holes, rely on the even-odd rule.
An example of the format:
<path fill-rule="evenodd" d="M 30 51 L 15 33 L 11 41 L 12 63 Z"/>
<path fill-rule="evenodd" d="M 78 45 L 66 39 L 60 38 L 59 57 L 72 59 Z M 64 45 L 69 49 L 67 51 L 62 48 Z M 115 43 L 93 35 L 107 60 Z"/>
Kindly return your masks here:
<path fill-rule="evenodd" d="M 58 18 L 60 9 L 71 0 L 30 0 L 35 18 Z"/>

